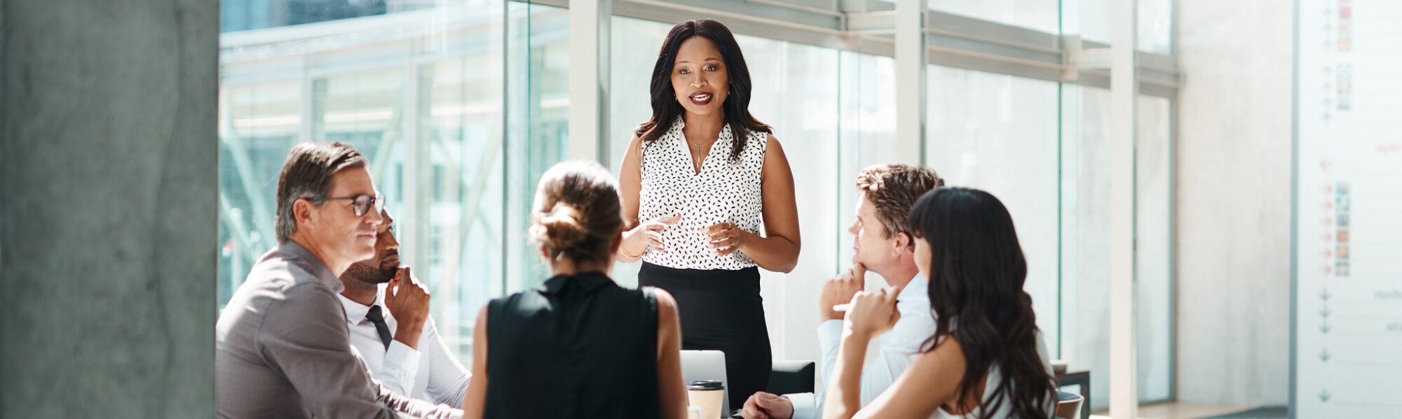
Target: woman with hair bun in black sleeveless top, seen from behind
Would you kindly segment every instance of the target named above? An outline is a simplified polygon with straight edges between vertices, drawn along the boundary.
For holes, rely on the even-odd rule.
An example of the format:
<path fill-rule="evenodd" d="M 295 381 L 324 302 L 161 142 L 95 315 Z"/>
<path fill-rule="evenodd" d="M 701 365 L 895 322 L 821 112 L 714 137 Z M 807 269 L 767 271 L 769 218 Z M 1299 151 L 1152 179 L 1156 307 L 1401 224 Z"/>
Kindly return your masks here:
<path fill-rule="evenodd" d="M 676 301 L 608 277 L 620 206 L 597 163 L 541 177 L 529 235 L 552 276 L 478 312 L 464 418 L 686 416 Z"/>

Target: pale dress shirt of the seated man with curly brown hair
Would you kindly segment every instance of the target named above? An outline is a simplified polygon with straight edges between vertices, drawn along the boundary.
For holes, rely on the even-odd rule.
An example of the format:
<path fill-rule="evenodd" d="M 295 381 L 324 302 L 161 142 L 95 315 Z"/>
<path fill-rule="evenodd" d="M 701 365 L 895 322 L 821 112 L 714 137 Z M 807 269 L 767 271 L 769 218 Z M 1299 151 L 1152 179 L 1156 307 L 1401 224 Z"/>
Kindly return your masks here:
<path fill-rule="evenodd" d="M 900 310 L 900 320 L 886 334 L 878 338 L 880 350 L 876 357 L 862 369 L 861 405 L 865 406 L 886 391 L 896 377 L 920 356 L 920 345 L 935 334 L 935 317 L 930 311 L 930 284 L 920 275 L 916 275 L 896 296 L 896 308 Z M 837 364 L 837 349 L 843 342 L 843 321 L 829 320 L 817 325 L 817 343 L 823 349 L 819 367 L 823 380 L 831 380 L 833 366 Z M 785 394 L 794 402 L 794 419 L 820 418 L 823 415 L 823 398 L 812 392 Z"/>

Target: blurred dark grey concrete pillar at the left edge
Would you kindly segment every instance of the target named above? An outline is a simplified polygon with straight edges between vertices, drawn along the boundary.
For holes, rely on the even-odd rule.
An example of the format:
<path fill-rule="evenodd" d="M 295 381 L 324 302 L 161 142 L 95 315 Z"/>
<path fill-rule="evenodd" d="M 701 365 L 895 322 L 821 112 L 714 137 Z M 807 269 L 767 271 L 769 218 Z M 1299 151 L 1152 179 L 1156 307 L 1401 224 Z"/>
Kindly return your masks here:
<path fill-rule="evenodd" d="M 217 62 L 217 0 L 0 0 L 0 418 L 212 415 Z"/>

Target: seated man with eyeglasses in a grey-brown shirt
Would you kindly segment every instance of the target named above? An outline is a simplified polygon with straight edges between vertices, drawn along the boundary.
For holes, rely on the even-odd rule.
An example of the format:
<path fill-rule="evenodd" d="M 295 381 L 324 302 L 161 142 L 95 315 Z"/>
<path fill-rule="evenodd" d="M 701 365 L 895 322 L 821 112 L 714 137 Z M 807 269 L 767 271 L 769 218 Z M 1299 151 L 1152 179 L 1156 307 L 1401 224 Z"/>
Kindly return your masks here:
<path fill-rule="evenodd" d="M 292 149 L 278 179 L 280 245 L 252 266 L 215 325 L 217 416 L 461 418 L 390 391 L 350 348 L 338 276 L 374 255 L 381 203 L 355 147 Z"/>

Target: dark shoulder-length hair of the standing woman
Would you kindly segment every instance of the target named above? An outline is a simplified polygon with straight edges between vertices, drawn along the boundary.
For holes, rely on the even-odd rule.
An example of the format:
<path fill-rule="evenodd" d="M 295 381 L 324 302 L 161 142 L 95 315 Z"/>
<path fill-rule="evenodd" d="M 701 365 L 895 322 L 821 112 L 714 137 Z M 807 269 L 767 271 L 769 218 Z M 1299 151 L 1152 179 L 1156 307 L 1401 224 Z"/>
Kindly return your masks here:
<path fill-rule="evenodd" d="M 730 160 L 737 161 L 740 151 L 744 150 L 747 132 L 773 133 L 774 130 L 750 115 L 750 88 L 754 87 L 750 81 L 750 67 L 744 64 L 744 55 L 740 53 L 740 45 L 735 42 L 730 28 L 718 21 L 694 20 L 672 27 L 667 38 L 662 41 L 658 63 L 652 66 L 652 88 L 649 90 L 652 119 L 638 125 L 632 133 L 641 137 L 644 144 L 652 143 L 666 135 L 667 129 L 672 129 L 672 122 L 686 112 L 681 104 L 677 104 L 676 91 L 672 90 L 672 67 L 677 60 L 677 49 L 681 48 L 681 42 L 691 36 L 711 39 L 715 49 L 721 50 L 721 60 L 725 62 L 730 85 L 721 108 L 725 109 L 725 122 L 730 125 L 730 133 L 735 136 Z"/>

